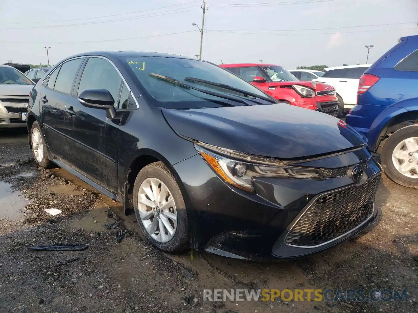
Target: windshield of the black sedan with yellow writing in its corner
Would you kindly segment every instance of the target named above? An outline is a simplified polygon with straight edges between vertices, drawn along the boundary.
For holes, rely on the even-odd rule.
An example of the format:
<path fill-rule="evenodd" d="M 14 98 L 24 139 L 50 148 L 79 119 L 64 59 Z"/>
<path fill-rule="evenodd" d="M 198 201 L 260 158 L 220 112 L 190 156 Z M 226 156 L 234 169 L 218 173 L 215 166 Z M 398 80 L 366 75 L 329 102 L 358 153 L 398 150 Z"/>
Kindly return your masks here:
<path fill-rule="evenodd" d="M 204 107 L 219 107 L 225 105 L 242 105 L 234 102 L 233 98 L 255 99 L 254 96 L 266 98 L 266 94 L 238 76 L 211 64 L 209 62 L 171 58 L 171 57 L 128 57 L 126 62 L 135 76 L 138 78 L 145 93 L 150 96 L 155 106 L 170 109 L 194 109 Z M 168 77 L 182 84 L 187 84 L 196 89 L 209 91 L 228 96 L 225 99 L 213 94 L 207 94 L 193 88 L 185 88 L 180 84 L 170 83 Z M 187 78 L 187 79 L 186 79 Z M 218 86 L 204 83 L 214 82 Z M 230 90 L 227 87 L 232 87 Z M 239 92 L 240 90 L 242 92 Z M 250 93 L 254 96 L 248 96 Z M 227 97 L 227 98 L 228 98 Z M 257 98 L 258 101 L 258 98 Z M 261 100 L 261 103 L 269 103 Z M 252 103 L 257 104 L 257 103 Z"/>

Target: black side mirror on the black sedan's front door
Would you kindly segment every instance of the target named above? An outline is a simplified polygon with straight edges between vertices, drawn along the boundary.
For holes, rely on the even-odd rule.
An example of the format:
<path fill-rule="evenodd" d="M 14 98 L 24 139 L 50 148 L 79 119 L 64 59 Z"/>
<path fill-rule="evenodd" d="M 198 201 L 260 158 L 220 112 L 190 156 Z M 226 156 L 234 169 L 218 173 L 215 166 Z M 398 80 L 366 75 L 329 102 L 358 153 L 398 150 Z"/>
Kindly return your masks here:
<path fill-rule="evenodd" d="M 116 116 L 116 110 L 113 104 L 115 100 L 106 89 L 87 89 L 78 96 L 78 100 L 83 106 L 93 109 L 106 110 L 106 117 L 113 119 Z"/>

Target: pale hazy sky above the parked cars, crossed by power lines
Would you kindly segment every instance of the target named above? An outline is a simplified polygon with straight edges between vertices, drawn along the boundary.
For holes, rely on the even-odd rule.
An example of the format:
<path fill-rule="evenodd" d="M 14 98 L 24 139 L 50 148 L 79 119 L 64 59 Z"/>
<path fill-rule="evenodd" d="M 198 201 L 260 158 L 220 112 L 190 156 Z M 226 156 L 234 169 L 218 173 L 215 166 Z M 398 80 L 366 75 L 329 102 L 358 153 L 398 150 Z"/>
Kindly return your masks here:
<path fill-rule="evenodd" d="M 95 50 L 194 57 L 200 33 L 191 23 L 201 26 L 202 2 L 190 1 L 0 0 L 0 62 L 46 63 L 45 45 L 51 65 Z M 418 34 L 418 0 L 207 0 L 206 7 L 202 58 L 214 63 L 365 63 L 370 44 L 373 63 L 398 38 Z M 352 27 L 364 25 L 379 26 Z M 116 40 L 123 38 L 130 39 Z"/>

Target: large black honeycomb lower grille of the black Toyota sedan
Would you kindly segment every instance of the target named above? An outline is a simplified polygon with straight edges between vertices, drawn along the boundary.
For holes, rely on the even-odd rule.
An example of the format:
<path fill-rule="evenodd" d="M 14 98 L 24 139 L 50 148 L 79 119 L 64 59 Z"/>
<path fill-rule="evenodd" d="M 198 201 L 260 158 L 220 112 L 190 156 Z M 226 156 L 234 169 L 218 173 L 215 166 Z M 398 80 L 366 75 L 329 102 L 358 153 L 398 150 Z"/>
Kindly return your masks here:
<path fill-rule="evenodd" d="M 313 247 L 334 240 L 366 221 L 373 213 L 380 175 L 361 186 L 320 196 L 285 237 L 285 243 Z"/>

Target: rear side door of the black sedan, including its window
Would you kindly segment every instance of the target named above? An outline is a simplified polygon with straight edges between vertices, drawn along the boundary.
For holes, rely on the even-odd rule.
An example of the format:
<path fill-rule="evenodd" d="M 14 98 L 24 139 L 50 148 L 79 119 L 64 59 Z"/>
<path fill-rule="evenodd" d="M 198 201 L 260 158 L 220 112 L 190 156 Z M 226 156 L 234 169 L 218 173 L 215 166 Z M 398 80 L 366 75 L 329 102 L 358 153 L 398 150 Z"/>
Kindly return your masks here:
<path fill-rule="evenodd" d="M 70 97 L 76 73 L 83 58 L 64 62 L 57 67 L 46 80 L 41 89 L 41 122 L 48 147 L 54 156 L 67 159 L 65 135 L 65 103 Z"/>

